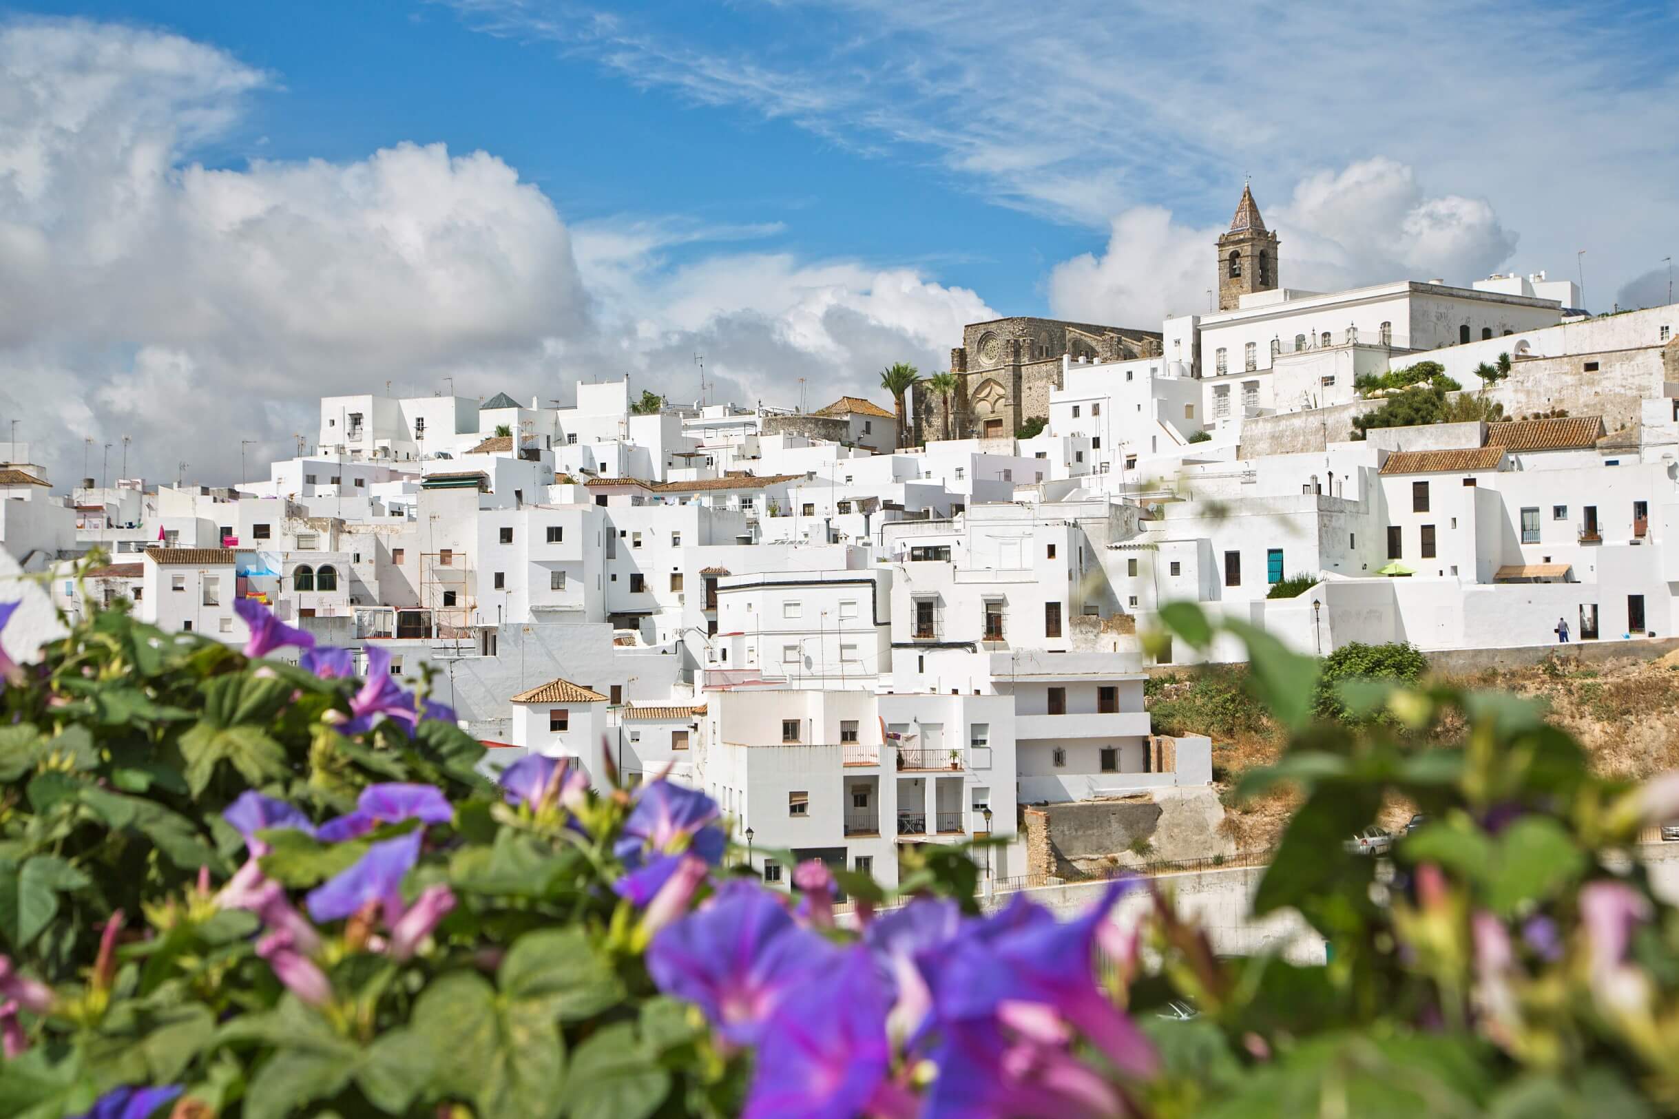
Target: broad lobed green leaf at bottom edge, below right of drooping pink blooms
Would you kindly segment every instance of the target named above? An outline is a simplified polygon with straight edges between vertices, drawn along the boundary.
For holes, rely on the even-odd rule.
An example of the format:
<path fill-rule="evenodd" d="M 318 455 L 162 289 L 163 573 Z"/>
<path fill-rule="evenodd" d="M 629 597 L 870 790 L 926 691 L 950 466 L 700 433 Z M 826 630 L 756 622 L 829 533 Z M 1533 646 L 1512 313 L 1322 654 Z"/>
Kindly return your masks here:
<path fill-rule="evenodd" d="M 437 1055 L 443 1096 L 470 1099 L 480 1116 L 559 1114 L 566 1054 L 541 1000 L 497 998 L 484 976 L 450 971 L 420 993 L 411 1025 Z"/>

